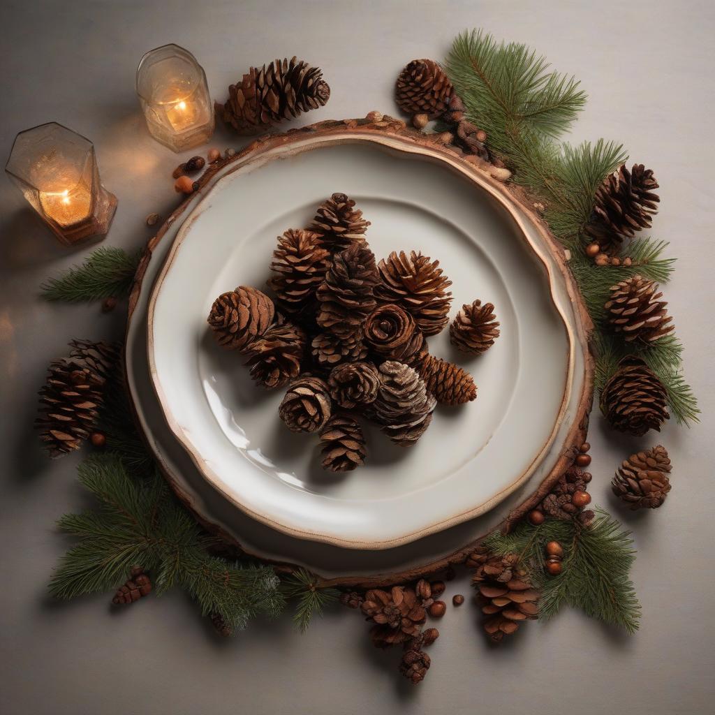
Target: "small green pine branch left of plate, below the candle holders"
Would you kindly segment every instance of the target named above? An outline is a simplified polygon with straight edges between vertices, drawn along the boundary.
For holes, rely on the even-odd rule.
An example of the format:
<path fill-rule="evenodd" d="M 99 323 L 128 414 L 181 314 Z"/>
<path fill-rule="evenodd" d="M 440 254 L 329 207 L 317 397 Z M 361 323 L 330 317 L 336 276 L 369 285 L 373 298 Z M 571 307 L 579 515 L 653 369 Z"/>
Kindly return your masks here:
<path fill-rule="evenodd" d="M 142 251 L 132 255 L 117 247 L 101 247 L 82 265 L 49 278 L 40 290 L 45 300 L 82 302 L 129 295 Z"/>

